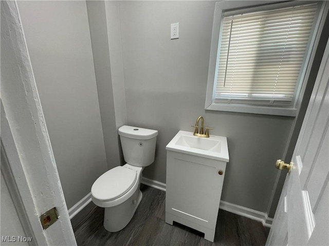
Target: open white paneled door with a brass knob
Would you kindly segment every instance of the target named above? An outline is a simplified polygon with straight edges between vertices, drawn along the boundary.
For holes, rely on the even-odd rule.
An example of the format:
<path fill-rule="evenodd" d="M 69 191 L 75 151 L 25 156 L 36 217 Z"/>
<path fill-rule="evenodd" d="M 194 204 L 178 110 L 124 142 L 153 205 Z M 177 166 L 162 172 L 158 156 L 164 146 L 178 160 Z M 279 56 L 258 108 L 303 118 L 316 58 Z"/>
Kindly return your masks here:
<path fill-rule="evenodd" d="M 328 53 L 329 42 L 266 245 L 329 245 Z"/>

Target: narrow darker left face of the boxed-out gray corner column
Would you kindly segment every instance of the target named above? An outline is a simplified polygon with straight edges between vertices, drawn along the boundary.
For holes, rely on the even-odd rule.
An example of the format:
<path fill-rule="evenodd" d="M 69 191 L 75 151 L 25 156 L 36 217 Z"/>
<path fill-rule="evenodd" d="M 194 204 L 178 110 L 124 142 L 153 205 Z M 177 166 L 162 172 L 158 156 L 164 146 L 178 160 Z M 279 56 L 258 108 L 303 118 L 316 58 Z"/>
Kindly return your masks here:
<path fill-rule="evenodd" d="M 120 165 L 119 150 L 121 148 L 119 148 L 114 97 L 112 96 L 114 91 L 108 48 L 105 3 L 103 1 L 86 1 L 86 4 L 107 168 L 111 169 Z"/>

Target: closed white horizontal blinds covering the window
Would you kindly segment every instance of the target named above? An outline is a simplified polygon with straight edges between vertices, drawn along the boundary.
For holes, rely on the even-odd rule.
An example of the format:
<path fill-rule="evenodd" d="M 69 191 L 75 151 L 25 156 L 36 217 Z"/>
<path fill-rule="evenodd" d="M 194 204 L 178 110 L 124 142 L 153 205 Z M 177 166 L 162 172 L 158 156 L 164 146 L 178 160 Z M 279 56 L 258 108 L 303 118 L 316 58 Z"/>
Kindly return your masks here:
<path fill-rule="evenodd" d="M 224 13 L 215 103 L 289 106 L 317 4 Z"/>

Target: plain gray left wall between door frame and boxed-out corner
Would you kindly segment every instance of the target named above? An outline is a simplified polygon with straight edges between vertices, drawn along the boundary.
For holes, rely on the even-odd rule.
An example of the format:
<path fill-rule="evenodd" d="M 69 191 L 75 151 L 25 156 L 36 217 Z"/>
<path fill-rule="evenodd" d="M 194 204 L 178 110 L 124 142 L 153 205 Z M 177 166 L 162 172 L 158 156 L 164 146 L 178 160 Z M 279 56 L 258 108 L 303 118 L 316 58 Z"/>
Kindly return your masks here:
<path fill-rule="evenodd" d="M 71 208 L 107 170 L 86 3 L 18 4 L 61 184 Z"/>

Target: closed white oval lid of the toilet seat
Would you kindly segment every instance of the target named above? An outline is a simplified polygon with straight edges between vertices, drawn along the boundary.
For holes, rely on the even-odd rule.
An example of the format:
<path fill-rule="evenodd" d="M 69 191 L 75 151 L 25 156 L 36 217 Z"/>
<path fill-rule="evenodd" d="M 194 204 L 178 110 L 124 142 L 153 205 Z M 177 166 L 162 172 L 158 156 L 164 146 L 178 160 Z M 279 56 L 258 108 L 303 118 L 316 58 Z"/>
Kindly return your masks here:
<path fill-rule="evenodd" d="M 115 167 L 102 174 L 92 186 L 92 195 L 98 200 L 114 200 L 127 193 L 136 181 L 136 171 Z"/>

